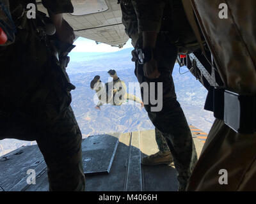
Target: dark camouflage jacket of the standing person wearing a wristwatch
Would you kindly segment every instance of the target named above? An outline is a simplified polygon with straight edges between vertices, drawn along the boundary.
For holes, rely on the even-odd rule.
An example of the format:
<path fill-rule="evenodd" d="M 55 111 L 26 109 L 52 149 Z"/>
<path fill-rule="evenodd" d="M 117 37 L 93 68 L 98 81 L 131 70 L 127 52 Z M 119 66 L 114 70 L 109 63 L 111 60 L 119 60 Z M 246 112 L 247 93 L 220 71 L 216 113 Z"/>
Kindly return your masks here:
<path fill-rule="evenodd" d="M 161 29 L 165 0 L 120 0 L 122 22 L 126 34 L 132 38 L 132 45 L 136 45 L 143 31 Z"/>

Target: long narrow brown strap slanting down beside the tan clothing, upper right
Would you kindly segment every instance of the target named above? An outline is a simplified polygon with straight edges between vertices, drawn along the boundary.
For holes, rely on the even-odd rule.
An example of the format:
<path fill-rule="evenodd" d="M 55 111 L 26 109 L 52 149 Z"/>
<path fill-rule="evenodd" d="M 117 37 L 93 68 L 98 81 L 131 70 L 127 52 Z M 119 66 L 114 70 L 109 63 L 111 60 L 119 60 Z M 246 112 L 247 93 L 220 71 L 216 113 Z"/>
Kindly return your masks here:
<path fill-rule="evenodd" d="M 200 35 L 200 31 L 198 29 L 198 25 L 196 24 L 194 10 L 193 10 L 191 1 L 190 0 L 182 0 L 182 4 L 184 6 L 184 10 L 186 12 L 189 24 L 191 25 L 191 27 L 195 33 L 196 40 L 198 41 L 200 48 L 202 49 L 202 52 L 204 52 L 204 55 L 207 56 L 205 49 L 204 49 L 204 43 L 203 43 L 201 35 Z"/>

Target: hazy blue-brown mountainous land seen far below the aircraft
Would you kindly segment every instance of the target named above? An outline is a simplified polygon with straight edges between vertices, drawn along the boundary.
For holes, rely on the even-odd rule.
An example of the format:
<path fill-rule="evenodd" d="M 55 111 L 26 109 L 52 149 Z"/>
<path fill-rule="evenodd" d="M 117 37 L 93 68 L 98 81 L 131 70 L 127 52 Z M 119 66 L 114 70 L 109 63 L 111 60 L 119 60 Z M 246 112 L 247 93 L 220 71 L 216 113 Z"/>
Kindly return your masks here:
<path fill-rule="evenodd" d="M 95 45 L 96 47 L 97 45 Z M 125 103 L 122 106 L 103 105 L 96 110 L 95 91 L 90 82 L 95 75 L 100 75 L 102 82 L 108 82 L 109 69 L 115 69 L 118 77 L 127 84 L 128 92 L 140 97 L 140 87 L 134 75 L 134 62 L 131 61 L 132 48 L 124 48 L 117 52 L 74 52 L 70 53 L 70 64 L 67 73 L 76 90 L 72 91 L 72 108 L 81 128 L 83 138 L 102 133 L 131 132 L 154 129 L 144 108 L 140 104 Z M 182 106 L 189 124 L 209 133 L 214 117 L 204 110 L 207 95 L 206 89 L 196 81 L 186 67 L 179 69 L 175 64 L 173 80 L 177 99 Z M 135 87 L 129 90 L 129 83 Z M 96 104 L 95 104 L 96 103 Z M 0 140 L 0 156 L 15 150 L 22 145 L 35 145 L 36 142 L 20 140 Z"/>

